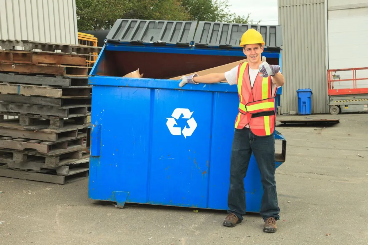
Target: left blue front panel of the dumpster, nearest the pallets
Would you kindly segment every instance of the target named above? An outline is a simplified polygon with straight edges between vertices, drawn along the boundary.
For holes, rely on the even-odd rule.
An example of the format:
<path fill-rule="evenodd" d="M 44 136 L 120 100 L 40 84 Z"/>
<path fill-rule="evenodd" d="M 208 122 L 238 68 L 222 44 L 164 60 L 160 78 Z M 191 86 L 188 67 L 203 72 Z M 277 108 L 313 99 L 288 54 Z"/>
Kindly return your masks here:
<path fill-rule="evenodd" d="M 113 191 L 126 191 L 127 201 L 147 202 L 150 120 L 139 115 L 150 115 L 150 90 L 93 86 L 92 94 L 91 123 L 100 125 L 102 143 L 99 161 L 91 161 L 90 198 L 114 200 Z"/>

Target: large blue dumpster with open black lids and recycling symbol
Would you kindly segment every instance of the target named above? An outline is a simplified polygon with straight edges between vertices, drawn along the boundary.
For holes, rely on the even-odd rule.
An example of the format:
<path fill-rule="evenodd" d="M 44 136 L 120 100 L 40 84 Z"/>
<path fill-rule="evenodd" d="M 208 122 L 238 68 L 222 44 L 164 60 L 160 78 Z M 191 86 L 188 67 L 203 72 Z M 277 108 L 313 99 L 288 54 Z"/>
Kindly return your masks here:
<path fill-rule="evenodd" d="M 200 22 L 194 37 L 196 24 L 119 19 L 113 26 L 89 76 L 90 199 L 114 201 L 120 207 L 146 203 L 228 208 L 237 86 L 187 84 L 180 88 L 180 81 L 168 78 L 245 57 L 238 40 L 207 41 L 203 28 L 216 23 Z M 225 24 L 221 26 L 225 29 Z M 244 32 L 250 25 L 238 27 Z M 279 38 L 280 26 L 252 25 L 262 27 L 270 46 L 263 55 L 271 64 L 279 64 L 280 48 L 270 44 L 276 40 L 270 28 L 277 27 Z M 206 31 L 209 39 L 216 28 Z M 123 77 L 138 68 L 144 78 Z M 282 141 L 275 155 L 275 167 L 279 167 L 285 161 L 286 140 L 277 131 L 275 139 Z M 247 212 L 259 212 L 263 188 L 254 156 L 244 187 Z"/>

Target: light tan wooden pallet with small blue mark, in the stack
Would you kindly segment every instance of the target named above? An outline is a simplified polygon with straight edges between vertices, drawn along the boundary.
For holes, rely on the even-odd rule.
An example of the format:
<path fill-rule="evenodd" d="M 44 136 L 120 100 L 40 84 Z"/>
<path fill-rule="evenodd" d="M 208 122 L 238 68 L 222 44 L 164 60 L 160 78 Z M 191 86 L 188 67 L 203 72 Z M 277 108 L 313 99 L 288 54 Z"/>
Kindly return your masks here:
<path fill-rule="evenodd" d="M 0 83 L 1 94 L 35 95 L 52 98 L 68 98 L 70 96 L 91 96 L 92 88 L 86 86 L 70 86 L 55 88 L 51 86 L 35 86 L 25 84 Z"/>

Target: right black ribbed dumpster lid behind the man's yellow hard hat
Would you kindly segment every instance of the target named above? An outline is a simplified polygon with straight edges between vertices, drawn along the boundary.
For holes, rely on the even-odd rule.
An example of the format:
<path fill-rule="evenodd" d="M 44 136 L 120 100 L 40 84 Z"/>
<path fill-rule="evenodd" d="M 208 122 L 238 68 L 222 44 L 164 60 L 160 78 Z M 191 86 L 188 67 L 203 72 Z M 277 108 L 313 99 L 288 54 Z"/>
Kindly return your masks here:
<path fill-rule="evenodd" d="M 220 48 L 240 48 L 240 39 L 244 32 L 253 28 L 258 30 L 265 41 L 268 50 L 280 50 L 282 46 L 281 25 L 250 25 L 222 22 L 200 21 L 194 36 L 195 46 Z"/>

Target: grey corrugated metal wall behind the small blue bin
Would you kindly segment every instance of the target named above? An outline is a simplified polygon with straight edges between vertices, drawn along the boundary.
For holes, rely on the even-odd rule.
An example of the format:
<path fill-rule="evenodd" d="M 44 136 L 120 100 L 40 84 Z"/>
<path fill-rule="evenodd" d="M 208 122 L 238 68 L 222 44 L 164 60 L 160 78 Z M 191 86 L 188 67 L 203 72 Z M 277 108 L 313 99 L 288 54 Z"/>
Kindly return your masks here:
<path fill-rule="evenodd" d="M 281 112 L 298 111 L 298 89 L 311 89 L 313 112 L 328 112 L 324 0 L 278 0 L 283 27 Z"/>

